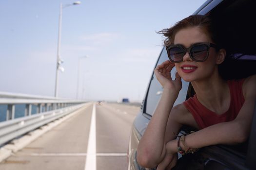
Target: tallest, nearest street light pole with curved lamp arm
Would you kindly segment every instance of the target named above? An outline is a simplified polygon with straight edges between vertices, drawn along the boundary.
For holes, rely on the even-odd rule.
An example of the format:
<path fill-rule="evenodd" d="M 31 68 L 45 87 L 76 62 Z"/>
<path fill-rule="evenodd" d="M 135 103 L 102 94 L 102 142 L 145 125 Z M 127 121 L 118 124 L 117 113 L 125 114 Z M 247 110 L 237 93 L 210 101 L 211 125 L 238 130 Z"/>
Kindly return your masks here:
<path fill-rule="evenodd" d="M 59 34 L 58 34 L 58 46 L 57 46 L 57 67 L 56 67 L 56 79 L 55 79 L 55 97 L 58 97 L 58 84 L 59 84 L 59 70 L 64 71 L 64 68 L 60 66 L 63 61 L 60 59 L 60 37 L 61 37 L 61 22 L 62 22 L 62 9 L 71 5 L 79 5 L 80 1 L 75 1 L 72 4 L 59 5 Z"/>

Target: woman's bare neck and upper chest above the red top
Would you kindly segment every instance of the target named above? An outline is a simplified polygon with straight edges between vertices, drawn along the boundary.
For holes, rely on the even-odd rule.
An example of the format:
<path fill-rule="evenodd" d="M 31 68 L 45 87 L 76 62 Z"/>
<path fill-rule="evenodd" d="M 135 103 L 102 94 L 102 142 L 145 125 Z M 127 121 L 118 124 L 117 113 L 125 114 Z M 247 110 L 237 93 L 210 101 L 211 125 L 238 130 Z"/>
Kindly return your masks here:
<path fill-rule="evenodd" d="M 198 101 L 209 110 L 222 114 L 230 105 L 229 86 L 218 74 L 208 79 L 191 82 Z"/>

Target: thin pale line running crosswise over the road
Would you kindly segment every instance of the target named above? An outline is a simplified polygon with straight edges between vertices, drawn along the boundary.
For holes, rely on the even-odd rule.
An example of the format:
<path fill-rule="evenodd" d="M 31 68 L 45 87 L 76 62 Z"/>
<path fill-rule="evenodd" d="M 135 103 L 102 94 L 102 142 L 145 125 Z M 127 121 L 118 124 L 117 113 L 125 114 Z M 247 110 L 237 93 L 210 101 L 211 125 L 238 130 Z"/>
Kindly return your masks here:
<path fill-rule="evenodd" d="M 87 156 L 87 153 L 31 153 L 30 156 Z M 96 156 L 127 156 L 127 153 L 96 153 Z"/>

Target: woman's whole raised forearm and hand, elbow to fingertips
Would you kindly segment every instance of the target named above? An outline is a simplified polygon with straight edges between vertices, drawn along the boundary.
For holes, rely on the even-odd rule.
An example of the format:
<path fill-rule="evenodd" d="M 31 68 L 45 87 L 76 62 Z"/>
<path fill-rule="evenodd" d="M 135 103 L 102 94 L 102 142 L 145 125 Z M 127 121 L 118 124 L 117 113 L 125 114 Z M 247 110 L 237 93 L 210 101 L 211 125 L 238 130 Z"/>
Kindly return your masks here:
<path fill-rule="evenodd" d="M 174 81 L 170 76 L 173 67 L 173 63 L 165 61 L 155 69 L 155 75 L 163 86 L 163 93 L 156 111 L 138 144 L 137 160 L 142 167 L 156 167 L 165 155 L 166 126 L 173 104 L 181 89 L 181 79 L 178 74 L 176 74 L 176 80 Z M 172 121 L 169 126 L 176 132 L 180 129 L 180 124 L 175 121 Z M 175 135 L 171 136 L 171 140 L 174 137 Z"/>

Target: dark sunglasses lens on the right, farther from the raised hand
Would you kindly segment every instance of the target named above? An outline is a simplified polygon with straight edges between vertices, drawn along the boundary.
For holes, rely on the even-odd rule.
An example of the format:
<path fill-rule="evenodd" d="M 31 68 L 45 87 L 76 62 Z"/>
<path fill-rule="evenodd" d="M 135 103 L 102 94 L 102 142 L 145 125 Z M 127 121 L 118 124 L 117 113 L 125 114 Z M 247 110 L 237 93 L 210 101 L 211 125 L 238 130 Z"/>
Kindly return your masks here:
<path fill-rule="evenodd" d="M 206 45 L 197 45 L 191 49 L 190 53 L 197 61 L 204 61 L 208 55 L 208 48 Z"/>

